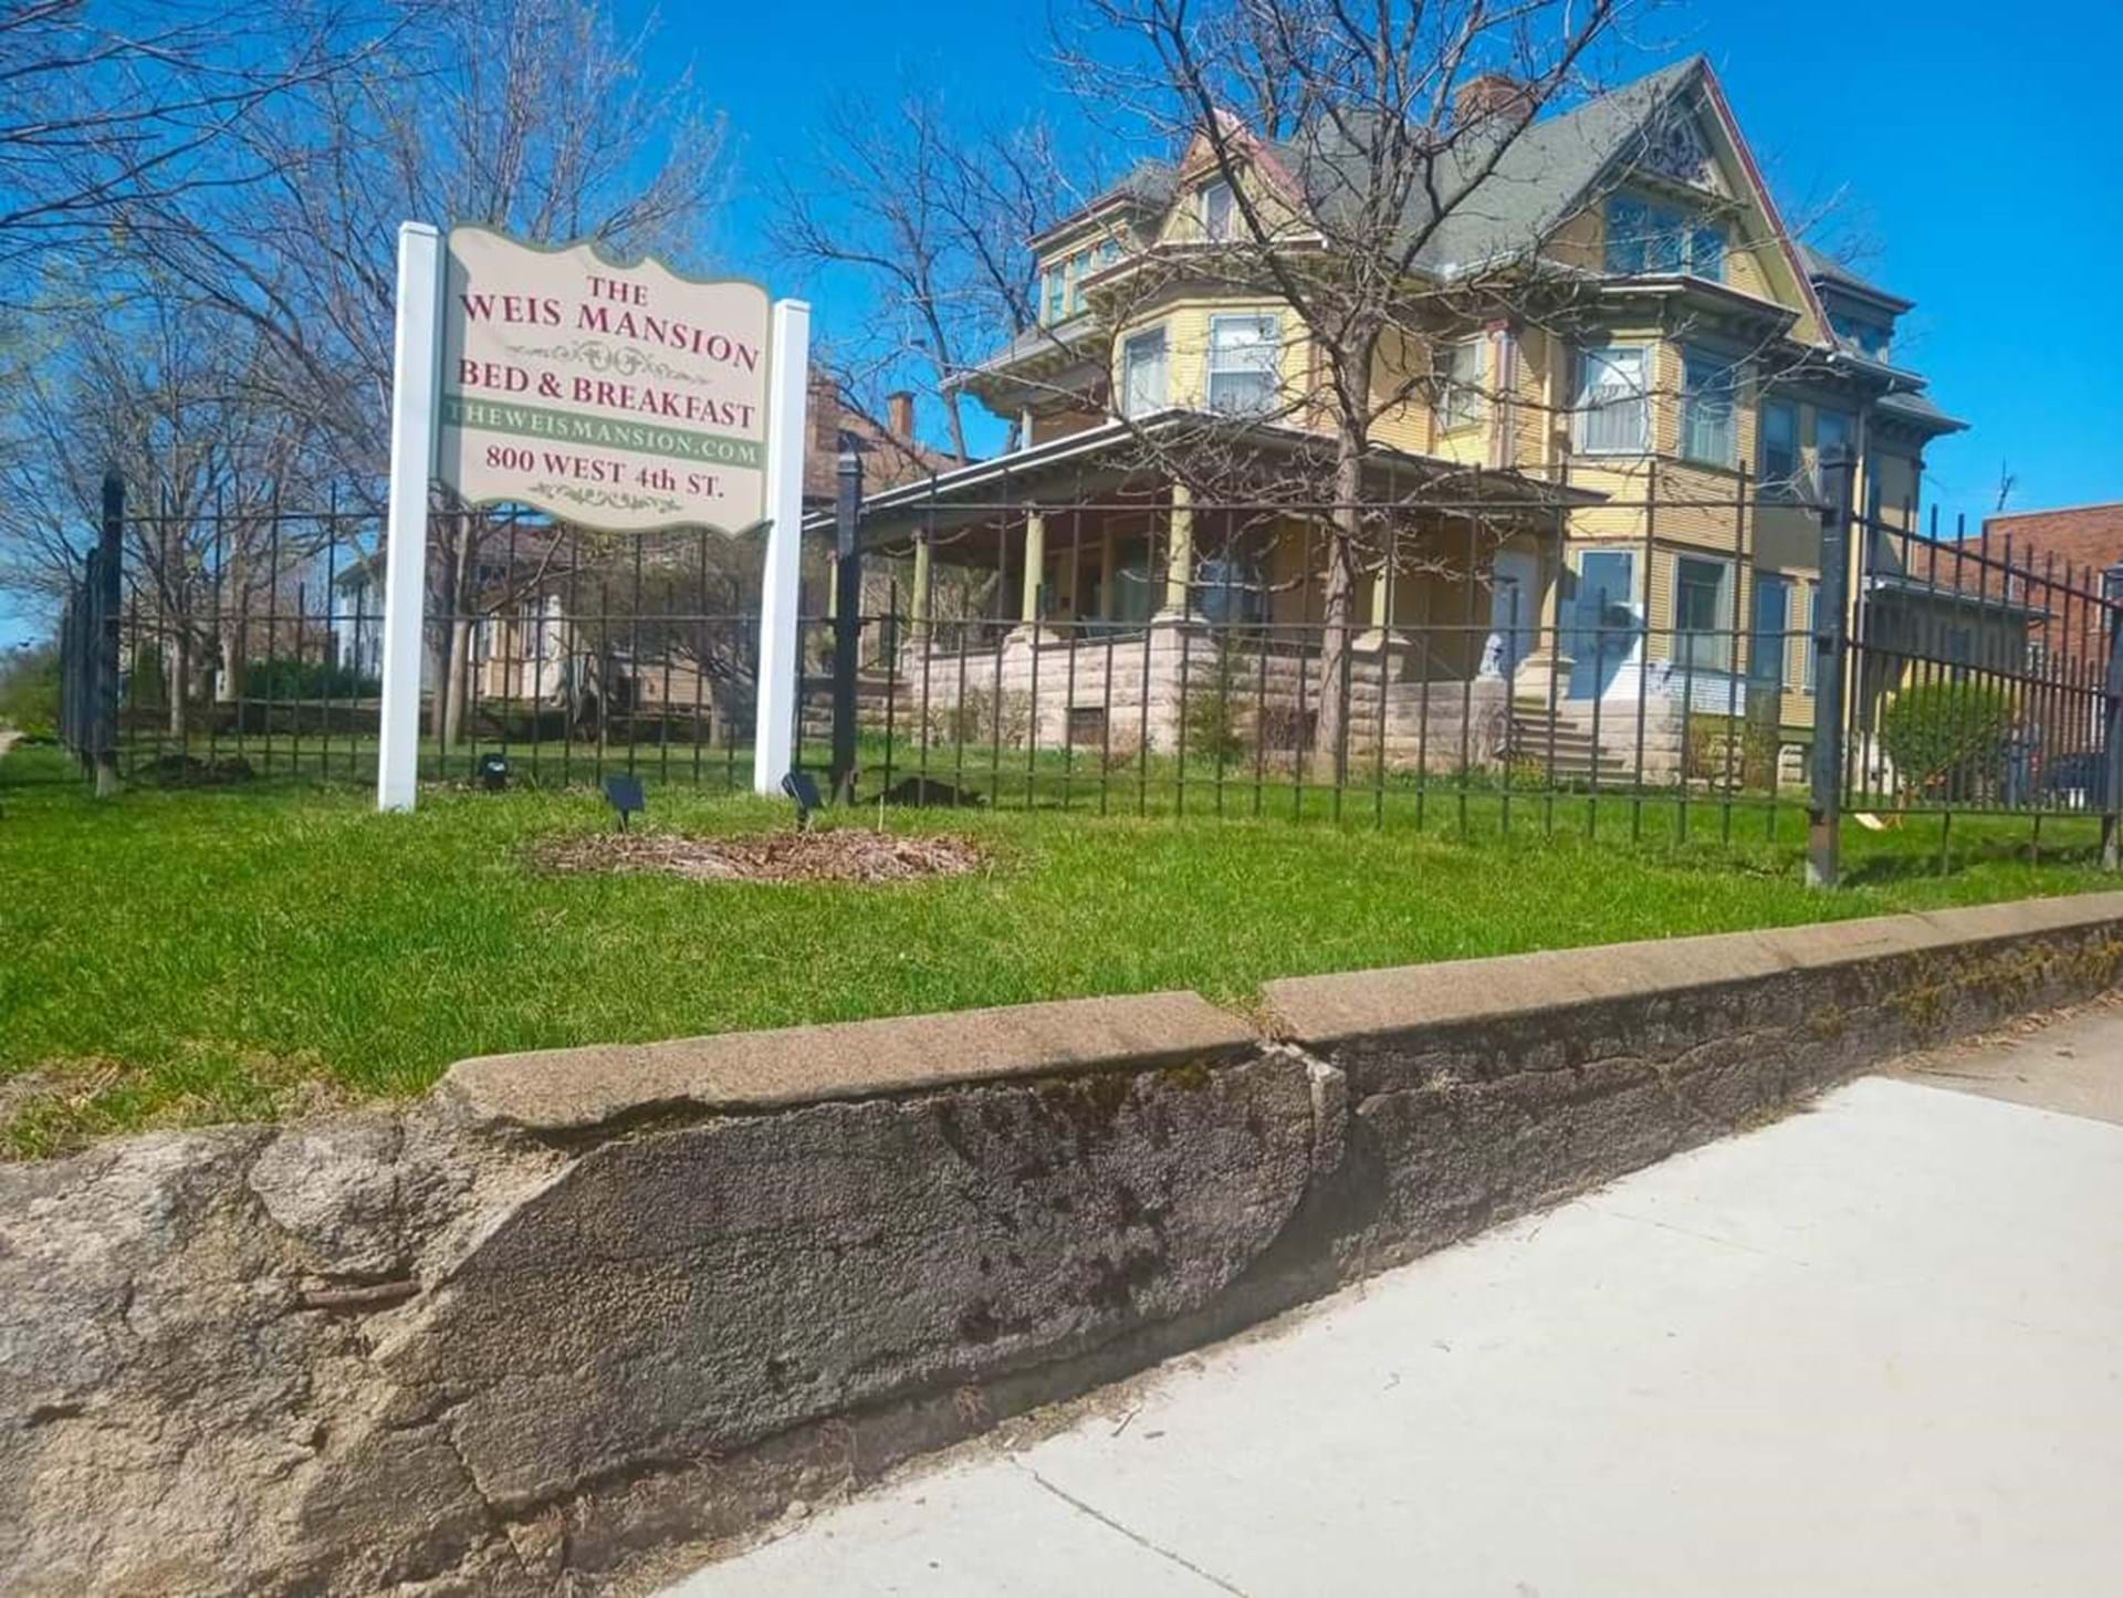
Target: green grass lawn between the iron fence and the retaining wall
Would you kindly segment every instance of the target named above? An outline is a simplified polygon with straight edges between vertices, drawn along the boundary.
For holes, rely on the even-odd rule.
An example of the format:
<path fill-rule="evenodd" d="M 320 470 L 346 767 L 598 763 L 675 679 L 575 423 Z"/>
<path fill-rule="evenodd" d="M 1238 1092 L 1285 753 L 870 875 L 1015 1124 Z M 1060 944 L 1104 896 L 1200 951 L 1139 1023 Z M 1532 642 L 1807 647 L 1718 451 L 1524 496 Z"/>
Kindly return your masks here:
<path fill-rule="evenodd" d="M 749 796 L 658 785 L 652 823 L 788 826 Z M 531 843 L 609 826 L 588 789 L 138 787 L 96 802 L 53 749 L 0 760 L 0 1150 L 144 1125 L 418 1093 L 454 1059 L 802 1021 L 1195 987 L 1783 925 L 2106 885 L 2095 823 L 1851 830 L 1851 885 L 1798 885 L 1802 815 L 1433 792 L 1346 823 L 907 811 L 991 868 L 915 885 L 546 876 Z M 1465 836 L 1461 832 L 1465 809 Z M 864 811 L 862 823 L 875 823 Z"/>

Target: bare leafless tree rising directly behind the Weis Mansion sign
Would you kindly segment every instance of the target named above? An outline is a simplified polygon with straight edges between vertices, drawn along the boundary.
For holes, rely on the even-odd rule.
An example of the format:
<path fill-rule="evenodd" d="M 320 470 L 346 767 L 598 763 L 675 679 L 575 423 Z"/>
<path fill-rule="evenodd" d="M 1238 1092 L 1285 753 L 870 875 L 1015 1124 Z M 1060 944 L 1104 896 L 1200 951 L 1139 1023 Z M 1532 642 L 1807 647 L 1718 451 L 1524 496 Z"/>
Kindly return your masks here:
<path fill-rule="evenodd" d="M 202 34 L 214 23 L 204 6 L 155 11 Z M 291 501 L 323 499 L 329 486 L 355 507 L 380 505 L 401 221 L 588 238 L 684 270 L 701 263 L 720 197 L 722 123 L 690 72 L 652 66 L 652 28 L 622 34 L 603 6 L 573 0 L 389 11 L 397 21 L 367 53 L 331 55 L 331 70 L 314 66 L 325 57 L 308 34 L 248 38 L 246 59 L 272 66 L 259 68 L 272 93 L 242 100 L 183 163 L 153 168 L 172 180 L 113 185 L 98 199 L 117 248 L 102 263 L 113 291 L 96 316 L 115 331 L 183 316 L 242 350 L 223 374 L 223 401 L 242 412 L 227 427 L 276 435 L 274 486 Z M 329 38 L 348 32 L 348 15 L 329 13 Z M 66 348 L 30 359 L 53 365 L 53 388 L 72 382 L 59 371 L 74 359 Z M 49 444 L 30 450 L 45 467 Z M 74 514 L 59 492 L 70 480 L 47 473 L 55 497 L 42 522 Z M 25 514 L 0 507 L 0 541 L 23 545 Z M 486 516 L 444 516 L 431 548 L 431 613 L 450 618 L 433 637 L 444 664 L 435 724 L 448 739 L 463 728 L 473 615 L 510 601 L 482 581 L 490 531 Z"/>

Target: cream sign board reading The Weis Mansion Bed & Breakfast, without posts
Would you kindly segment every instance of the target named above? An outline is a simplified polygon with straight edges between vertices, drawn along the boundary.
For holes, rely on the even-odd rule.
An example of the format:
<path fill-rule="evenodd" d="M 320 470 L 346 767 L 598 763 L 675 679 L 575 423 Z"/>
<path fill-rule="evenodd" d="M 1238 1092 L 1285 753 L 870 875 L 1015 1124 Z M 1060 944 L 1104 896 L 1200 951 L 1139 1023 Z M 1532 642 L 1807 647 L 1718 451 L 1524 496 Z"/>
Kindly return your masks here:
<path fill-rule="evenodd" d="M 766 291 L 452 227 L 435 475 L 580 526 L 766 516 Z"/>

